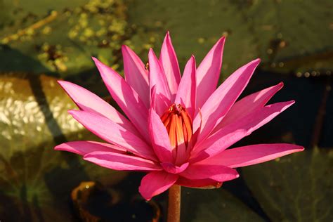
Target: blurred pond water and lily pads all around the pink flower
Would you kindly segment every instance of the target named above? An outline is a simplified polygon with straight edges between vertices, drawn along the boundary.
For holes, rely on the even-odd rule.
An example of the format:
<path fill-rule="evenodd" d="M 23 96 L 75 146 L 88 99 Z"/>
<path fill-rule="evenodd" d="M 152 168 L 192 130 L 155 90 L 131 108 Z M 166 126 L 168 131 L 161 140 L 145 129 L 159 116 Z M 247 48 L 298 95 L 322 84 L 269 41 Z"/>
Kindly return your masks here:
<path fill-rule="evenodd" d="M 226 36 L 221 81 L 261 58 L 242 96 L 280 81 L 271 101 L 296 100 L 236 145 L 306 150 L 256 166 L 217 190 L 183 188 L 182 221 L 332 221 L 333 1 L 0 0 L 0 221 L 165 221 L 166 194 L 145 202 L 143 174 L 54 151 L 98 140 L 67 115 L 57 79 L 112 105 L 91 56 L 123 73 L 121 46 L 143 62 L 167 30 L 181 63 Z M 241 96 L 241 97 L 242 97 Z"/>

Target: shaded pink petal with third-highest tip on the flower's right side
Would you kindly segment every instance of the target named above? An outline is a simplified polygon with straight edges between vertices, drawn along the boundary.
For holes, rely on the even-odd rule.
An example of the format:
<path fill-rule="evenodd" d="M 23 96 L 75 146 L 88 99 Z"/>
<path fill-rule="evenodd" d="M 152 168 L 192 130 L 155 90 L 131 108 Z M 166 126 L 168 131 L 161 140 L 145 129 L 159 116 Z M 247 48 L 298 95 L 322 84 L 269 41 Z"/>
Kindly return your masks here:
<path fill-rule="evenodd" d="M 237 119 L 242 119 L 242 117 L 245 117 L 251 112 L 259 110 L 261 107 L 266 105 L 270 98 L 272 98 L 280 89 L 282 89 L 282 87 L 283 83 L 280 82 L 275 86 L 271 86 L 259 92 L 252 93 L 251 95 L 237 101 L 233 107 L 231 107 L 226 117 L 223 118 L 223 121 L 221 121 L 220 124 L 215 127 L 214 132 L 232 122 L 236 122 Z"/>

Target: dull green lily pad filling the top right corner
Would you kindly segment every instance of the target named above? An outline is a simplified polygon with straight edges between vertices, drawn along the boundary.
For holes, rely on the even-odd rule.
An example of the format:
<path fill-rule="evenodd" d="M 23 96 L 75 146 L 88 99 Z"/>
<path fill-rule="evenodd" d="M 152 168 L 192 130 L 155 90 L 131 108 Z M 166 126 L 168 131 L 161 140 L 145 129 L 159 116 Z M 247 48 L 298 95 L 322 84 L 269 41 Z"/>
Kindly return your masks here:
<path fill-rule="evenodd" d="M 275 72 L 332 70 L 332 1 L 240 4 L 259 41 L 265 68 Z M 318 73 L 320 74 L 320 73 Z"/>

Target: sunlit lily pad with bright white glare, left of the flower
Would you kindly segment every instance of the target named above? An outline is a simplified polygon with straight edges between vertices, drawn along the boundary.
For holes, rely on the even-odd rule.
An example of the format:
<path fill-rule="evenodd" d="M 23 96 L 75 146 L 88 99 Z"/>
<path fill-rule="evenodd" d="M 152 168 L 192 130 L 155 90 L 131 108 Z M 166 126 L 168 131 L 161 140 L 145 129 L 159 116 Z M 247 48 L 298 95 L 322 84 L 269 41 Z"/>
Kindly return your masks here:
<path fill-rule="evenodd" d="M 74 103 L 52 77 L 0 76 L 0 217 L 68 221 L 71 190 L 81 181 L 114 185 L 126 176 L 53 150 L 68 140 L 97 140 L 67 110 Z"/>

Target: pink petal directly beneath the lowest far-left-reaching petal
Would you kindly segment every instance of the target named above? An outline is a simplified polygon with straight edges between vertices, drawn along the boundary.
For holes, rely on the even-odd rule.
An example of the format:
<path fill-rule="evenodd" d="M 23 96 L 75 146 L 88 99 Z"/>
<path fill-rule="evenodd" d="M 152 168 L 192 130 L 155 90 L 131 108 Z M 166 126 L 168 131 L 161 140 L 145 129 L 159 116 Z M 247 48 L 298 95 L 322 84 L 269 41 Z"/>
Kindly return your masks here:
<path fill-rule="evenodd" d="M 162 167 L 149 159 L 118 152 L 95 151 L 84 155 L 84 160 L 109 169 L 129 171 L 161 171 Z"/>

